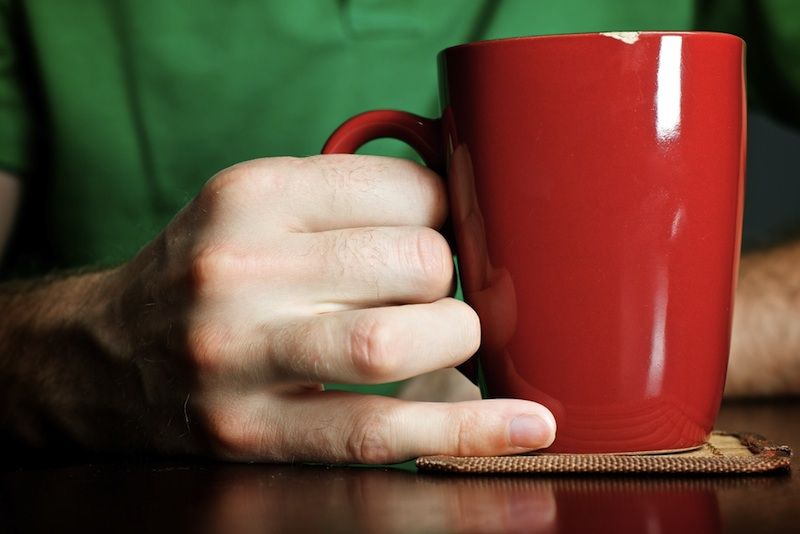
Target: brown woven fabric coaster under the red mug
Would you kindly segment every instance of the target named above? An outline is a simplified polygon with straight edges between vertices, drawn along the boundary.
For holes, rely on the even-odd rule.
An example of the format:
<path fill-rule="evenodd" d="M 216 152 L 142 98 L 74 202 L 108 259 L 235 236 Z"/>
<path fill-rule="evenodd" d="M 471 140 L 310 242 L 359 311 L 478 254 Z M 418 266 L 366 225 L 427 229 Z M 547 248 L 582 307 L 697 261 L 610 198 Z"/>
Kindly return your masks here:
<path fill-rule="evenodd" d="M 758 434 L 715 431 L 702 447 L 679 453 L 423 456 L 421 471 L 448 473 L 753 474 L 789 469 L 792 450 Z"/>

